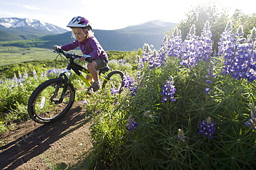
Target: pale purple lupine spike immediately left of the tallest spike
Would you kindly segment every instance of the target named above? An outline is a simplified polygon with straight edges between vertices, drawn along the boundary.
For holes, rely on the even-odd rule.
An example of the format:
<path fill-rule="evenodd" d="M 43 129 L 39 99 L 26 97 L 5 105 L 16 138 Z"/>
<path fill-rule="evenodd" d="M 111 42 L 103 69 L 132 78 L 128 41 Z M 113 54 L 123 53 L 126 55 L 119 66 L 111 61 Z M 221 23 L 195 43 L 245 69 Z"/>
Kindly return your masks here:
<path fill-rule="evenodd" d="M 186 68 L 193 67 L 194 64 L 198 62 L 199 56 L 199 41 L 198 36 L 196 36 L 196 27 L 194 24 L 190 28 L 187 39 L 183 41 L 183 48 L 181 50 L 183 52 L 181 65 L 186 66 Z"/>

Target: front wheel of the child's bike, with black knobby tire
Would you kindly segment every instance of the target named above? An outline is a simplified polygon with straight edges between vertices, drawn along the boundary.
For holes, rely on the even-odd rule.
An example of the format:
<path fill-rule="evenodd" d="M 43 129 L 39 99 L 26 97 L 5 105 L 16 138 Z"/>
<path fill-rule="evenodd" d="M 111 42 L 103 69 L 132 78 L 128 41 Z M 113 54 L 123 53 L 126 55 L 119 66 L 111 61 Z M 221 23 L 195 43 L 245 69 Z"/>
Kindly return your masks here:
<path fill-rule="evenodd" d="M 56 102 L 59 101 L 63 88 L 64 79 L 62 78 L 48 79 L 35 88 L 28 100 L 28 115 L 30 118 L 35 122 L 44 124 L 55 122 L 64 116 L 75 100 L 75 88 L 69 82 L 63 101 L 57 104 Z"/>

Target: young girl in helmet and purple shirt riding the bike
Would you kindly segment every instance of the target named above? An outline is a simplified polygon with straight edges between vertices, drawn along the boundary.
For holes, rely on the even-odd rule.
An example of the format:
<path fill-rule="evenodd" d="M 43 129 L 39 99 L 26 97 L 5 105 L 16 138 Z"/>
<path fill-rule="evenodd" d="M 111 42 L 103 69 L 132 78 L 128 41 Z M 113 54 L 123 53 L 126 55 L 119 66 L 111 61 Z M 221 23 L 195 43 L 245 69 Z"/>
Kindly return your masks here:
<path fill-rule="evenodd" d="M 81 61 L 85 61 L 86 57 L 91 57 L 93 62 L 87 64 L 87 68 L 92 77 L 87 75 L 86 79 L 89 80 L 89 82 L 93 82 L 93 84 L 88 88 L 90 91 L 91 88 L 93 91 L 98 91 L 100 88 L 100 82 L 99 77 L 96 69 L 104 68 L 107 66 L 108 63 L 108 57 L 107 53 L 104 51 L 102 46 L 100 46 L 100 43 L 98 40 L 93 36 L 92 28 L 89 24 L 89 21 L 87 19 L 84 19 L 84 17 L 74 17 L 67 25 L 67 27 L 72 29 L 72 35 L 76 39 L 70 44 L 66 44 L 64 46 L 60 46 L 59 48 L 62 48 L 62 50 L 68 51 L 73 50 L 80 47 L 80 50 L 82 51 L 83 55 L 81 57 Z M 58 47 L 53 47 L 54 50 L 56 50 Z"/>

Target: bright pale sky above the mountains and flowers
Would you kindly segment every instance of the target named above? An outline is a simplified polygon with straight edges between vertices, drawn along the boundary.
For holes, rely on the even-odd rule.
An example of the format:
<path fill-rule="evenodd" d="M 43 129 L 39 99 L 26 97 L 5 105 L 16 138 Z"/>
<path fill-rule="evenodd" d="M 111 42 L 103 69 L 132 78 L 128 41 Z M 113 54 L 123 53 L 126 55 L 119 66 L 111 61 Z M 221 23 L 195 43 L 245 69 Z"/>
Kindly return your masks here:
<path fill-rule="evenodd" d="M 93 29 L 116 30 L 151 20 L 179 23 L 185 14 L 207 0 L 0 0 L 0 18 L 39 19 L 61 28 L 73 17 L 85 17 Z M 214 0 L 232 13 L 256 12 L 253 0 Z M 207 2 L 206 2 L 207 3 Z M 66 28 L 68 29 L 68 28 Z"/>

